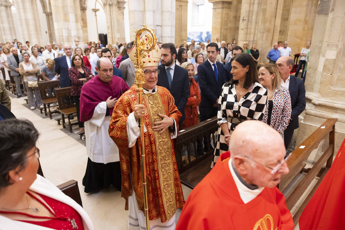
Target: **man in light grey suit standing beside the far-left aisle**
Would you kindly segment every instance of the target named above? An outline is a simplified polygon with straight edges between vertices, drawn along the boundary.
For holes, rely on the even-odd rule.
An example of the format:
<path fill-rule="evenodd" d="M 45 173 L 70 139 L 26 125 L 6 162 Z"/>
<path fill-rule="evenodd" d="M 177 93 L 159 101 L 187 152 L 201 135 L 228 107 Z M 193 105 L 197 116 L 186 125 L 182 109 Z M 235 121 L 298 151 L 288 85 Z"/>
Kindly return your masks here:
<path fill-rule="evenodd" d="M 19 63 L 23 61 L 23 57 L 18 54 L 18 50 L 14 47 L 11 48 L 11 53 L 10 56 L 7 56 L 7 62 L 11 70 L 11 76 L 13 76 L 13 80 L 16 82 L 17 98 L 20 98 L 22 96 L 20 89 L 21 75 L 19 74 L 18 66 Z"/>

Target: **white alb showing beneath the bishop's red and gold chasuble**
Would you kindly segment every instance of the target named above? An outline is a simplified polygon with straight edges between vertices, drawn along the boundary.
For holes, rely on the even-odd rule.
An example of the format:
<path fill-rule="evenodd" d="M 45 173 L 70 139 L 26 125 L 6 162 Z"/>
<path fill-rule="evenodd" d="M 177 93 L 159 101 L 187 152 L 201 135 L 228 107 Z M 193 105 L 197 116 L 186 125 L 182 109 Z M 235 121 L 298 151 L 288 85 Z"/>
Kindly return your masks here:
<path fill-rule="evenodd" d="M 153 91 L 153 92 L 152 92 Z M 143 92 L 145 94 L 155 94 L 157 92 L 157 87 L 151 90 L 144 89 Z M 170 133 L 170 138 L 174 139 L 177 137 L 177 126 L 176 121 L 174 118 L 174 126 L 175 132 Z M 144 124 L 144 132 L 146 132 L 146 127 Z M 138 137 L 140 136 L 140 128 L 138 125 L 138 121 L 135 120 L 134 112 L 130 113 L 127 118 L 127 135 L 128 135 L 128 148 L 131 148 L 137 142 Z M 131 169 L 130 169 L 131 171 Z M 132 177 L 131 172 L 129 172 L 129 176 L 131 179 L 132 184 Z M 135 192 L 133 189 L 132 184 L 132 194 L 128 197 L 128 230 L 144 230 L 146 229 L 146 219 L 144 216 L 144 212 L 139 210 L 137 199 L 135 197 Z M 150 230 L 174 230 L 176 227 L 176 214 L 172 216 L 170 220 L 165 221 L 162 223 L 160 218 L 156 220 L 150 220 Z"/>

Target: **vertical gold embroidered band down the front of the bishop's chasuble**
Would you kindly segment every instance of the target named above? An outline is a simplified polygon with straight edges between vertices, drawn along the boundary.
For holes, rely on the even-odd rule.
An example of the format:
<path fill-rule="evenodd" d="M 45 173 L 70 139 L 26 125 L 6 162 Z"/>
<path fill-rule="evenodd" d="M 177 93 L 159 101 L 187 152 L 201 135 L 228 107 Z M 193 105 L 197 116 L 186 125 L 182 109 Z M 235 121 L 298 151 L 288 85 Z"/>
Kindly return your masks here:
<path fill-rule="evenodd" d="M 147 110 L 152 125 L 156 121 L 161 121 L 162 118 L 158 116 L 158 113 L 165 114 L 165 111 L 158 93 L 144 94 L 144 99 L 147 104 Z M 162 191 L 164 210 L 167 220 L 170 220 L 176 212 L 170 133 L 168 129 L 164 130 L 161 134 L 158 134 L 157 131 L 153 131 L 153 133 L 155 135 L 159 182 Z"/>

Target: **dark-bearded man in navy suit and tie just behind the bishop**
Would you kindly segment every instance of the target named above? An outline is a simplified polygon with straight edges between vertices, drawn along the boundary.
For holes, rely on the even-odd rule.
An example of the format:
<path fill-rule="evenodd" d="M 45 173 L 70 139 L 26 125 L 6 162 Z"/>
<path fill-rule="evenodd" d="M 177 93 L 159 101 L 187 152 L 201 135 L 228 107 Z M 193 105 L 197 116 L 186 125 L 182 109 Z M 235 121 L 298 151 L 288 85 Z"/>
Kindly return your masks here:
<path fill-rule="evenodd" d="M 185 107 L 190 96 L 188 72 L 175 64 L 176 48 L 174 44 L 162 44 L 160 52 L 162 64 L 158 66 L 157 86 L 167 88 L 174 97 L 177 109 L 182 113 L 178 122 L 178 129 L 181 130 L 182 121 L 185 120 Z"/>

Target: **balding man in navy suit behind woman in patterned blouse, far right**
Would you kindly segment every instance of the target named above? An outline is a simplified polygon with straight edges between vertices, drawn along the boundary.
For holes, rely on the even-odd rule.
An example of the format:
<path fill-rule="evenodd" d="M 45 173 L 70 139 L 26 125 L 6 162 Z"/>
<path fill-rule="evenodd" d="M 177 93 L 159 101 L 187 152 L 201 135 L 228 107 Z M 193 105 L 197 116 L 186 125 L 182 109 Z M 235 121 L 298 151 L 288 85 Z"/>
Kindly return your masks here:
<path fill-rule="evenodd" d="M 294 134 L 294 130 L 298 128 L 298 115 L 305 109 L 305 88 L 302 79 L 290 75 L 290 71 L 294 66 L 294 59 L 288 56 L 280 57 L 276 61 L 276 65 L 280 73 L 280 78 L 282 79 L 280 85 L 289 89 L 291 97 L 291 118 L 289 125 L 284 131 L 284 143 L 287 149 L 291 142 L 292 135 Z"/>

